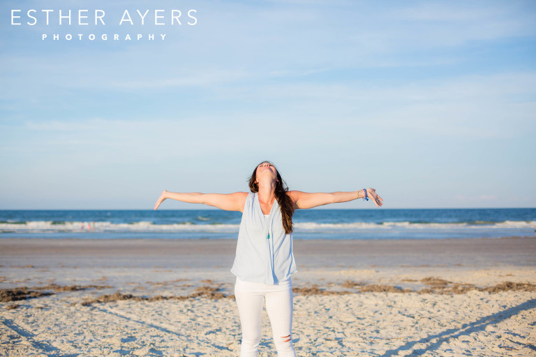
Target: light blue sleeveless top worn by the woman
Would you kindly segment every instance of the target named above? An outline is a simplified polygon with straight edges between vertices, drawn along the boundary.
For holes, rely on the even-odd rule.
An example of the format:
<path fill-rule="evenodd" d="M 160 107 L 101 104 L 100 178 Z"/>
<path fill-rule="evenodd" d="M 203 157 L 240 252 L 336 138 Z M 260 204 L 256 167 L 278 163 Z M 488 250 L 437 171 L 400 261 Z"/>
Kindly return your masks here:
<path fill-rule="evenodd" d="M 265 218 L 258 195 L 248 194 L 231 273 L 246 282 L 277 284 L 296 272 L 292 234 L 285 234 L 277 200 Z"/>

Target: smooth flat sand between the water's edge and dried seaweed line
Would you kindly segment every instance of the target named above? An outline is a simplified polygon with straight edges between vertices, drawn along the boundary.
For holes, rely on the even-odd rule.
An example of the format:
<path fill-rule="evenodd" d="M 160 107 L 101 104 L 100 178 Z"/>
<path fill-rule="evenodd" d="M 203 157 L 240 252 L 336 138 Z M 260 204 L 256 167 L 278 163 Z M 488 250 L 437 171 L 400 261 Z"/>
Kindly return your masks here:
<path fill-rule="evenodd" d="M 300 287 L 348 280 L 417 289 L 410 281 L 432 276 L 479 287 L 507 280 L 535 282 L 531 274 L 536 271 L 534 238 L 293 244 L 298 272 L 292 281 Z M 20 287 L 23 282 L 28 287 L 45 282 L 87 285 L 106 278 L 116 289 L 131 291 L 133 285 L 149 281 L 187 278 L 214 280 L 231 290 L 235 250 L 235 240 L 0 239 L 0 287 Z"/>

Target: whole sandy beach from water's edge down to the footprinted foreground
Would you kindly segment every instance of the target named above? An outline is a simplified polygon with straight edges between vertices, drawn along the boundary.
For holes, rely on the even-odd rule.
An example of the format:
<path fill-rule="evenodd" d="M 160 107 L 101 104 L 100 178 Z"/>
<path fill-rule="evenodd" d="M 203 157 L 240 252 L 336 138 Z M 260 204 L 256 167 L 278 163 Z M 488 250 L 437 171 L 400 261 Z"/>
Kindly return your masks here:
<path fill-rule="evenodd" d="M 238 356 L 235 244 L 0 239 L 0 356 Z M 536 356 L 535 238 L 296 240 L 295 257 L 297 356 Z"/>

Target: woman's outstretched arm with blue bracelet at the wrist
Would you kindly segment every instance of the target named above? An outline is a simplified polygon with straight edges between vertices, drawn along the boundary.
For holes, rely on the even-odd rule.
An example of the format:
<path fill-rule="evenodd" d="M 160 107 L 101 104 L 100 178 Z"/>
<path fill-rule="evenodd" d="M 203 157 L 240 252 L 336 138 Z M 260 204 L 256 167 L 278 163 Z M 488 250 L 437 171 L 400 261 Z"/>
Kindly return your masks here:
<path fill-rule="evenodd" d="M 364 198 L 364 190 L 352 191 L 352 192 L 318 192 L 318 193 L 309 193 L 301 191 L 289 191 L 288 195 L 294 202 L 294 207 L 296 209 L 306 209 L 322 206 L 325 204 L 335 204 L 340 202 L 353 201 L 354 199 Z M 366 195 L 368 199 L 371 199 L 372 202 L 377 207 L 382 206 L 383 199 L 382 197 L 376 194 L 376 190 L 373 188 L 366 189 Z"/>

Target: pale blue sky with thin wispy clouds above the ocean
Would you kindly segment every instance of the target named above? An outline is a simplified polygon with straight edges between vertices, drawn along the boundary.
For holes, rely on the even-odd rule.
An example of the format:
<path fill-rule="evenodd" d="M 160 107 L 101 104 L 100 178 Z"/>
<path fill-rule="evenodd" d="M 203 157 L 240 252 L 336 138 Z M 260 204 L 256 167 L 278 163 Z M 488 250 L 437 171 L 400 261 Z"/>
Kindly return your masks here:
<path fill-rule="evenodd" d="M 0 16 L 0 209 L 150 209 L 163 189 L 245 191 L 265 159 L 291 189 L 370 186 L 386 208 L 536 206 L 533 1 L 2 1 Z"/>

